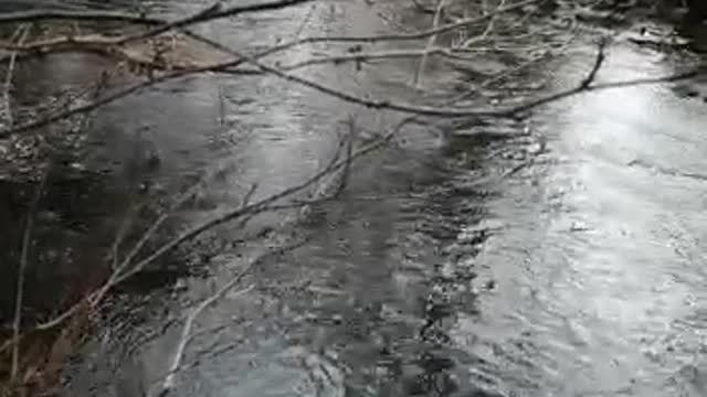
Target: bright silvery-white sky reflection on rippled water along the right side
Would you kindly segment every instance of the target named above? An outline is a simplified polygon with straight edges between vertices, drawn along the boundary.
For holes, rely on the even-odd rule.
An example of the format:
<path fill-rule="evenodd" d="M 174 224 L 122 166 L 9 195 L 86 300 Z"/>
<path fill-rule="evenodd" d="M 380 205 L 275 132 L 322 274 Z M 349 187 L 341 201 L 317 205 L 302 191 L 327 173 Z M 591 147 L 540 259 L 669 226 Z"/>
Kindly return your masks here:
<path fill-rule="evenodd" d="M 669 72 L 653 57 L 614 49 L 602 78 Z M 566 67 L 560 76 L 577 75 Z M 496 384 L 508 391 L 701 396 L 705 319 L 695 321 L 707 298 L 699 287 L 706 191 L 699 179 L 661 170 L 704 169 L 704 104 L 669 87 L 635 87 L 570 105 L 538 117 L 561 163 L 529 175 L 540 178 L 537 187 L 513 183 L 494 205 L 507 232 L 482 262 L 499 288 L 481 298 L 483 321 L 458 332 L 510 351 L 488 369 L 509 378 Z M 530 361 L 509 361 L 518 354 Z"/>

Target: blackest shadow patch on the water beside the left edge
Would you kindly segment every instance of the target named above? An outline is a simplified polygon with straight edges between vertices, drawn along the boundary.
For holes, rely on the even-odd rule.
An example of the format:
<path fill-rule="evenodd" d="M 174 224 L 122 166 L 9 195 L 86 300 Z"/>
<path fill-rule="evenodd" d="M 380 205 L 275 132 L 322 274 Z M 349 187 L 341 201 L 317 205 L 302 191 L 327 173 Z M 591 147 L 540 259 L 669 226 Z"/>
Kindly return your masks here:
<path fill-rule="evenodd" d="M 77 171 L 72 167 L 74 160 L 53 162 L 35 208 L 31 203 L 40 182 L 0 182 L 0 222 L 3 230 L 8 230 L 0 242 L 4 275 L 0 281 L 2 323 L 9 322 L 14 310 L 17 270 L 29 216 L 33 217 L 33 228 L 24 285 L 23 319 L 28 324 L 67 308 L 104 282 L 114 262 L 112 253 L 118 233 L 129 225 L 122 240 L 123 255 L 124 247 L 135 244 L 169 204 L 166 198 L 148 200 L 123 189 L 120 180 L 116 183 L 110 173 Z M 170 228 L 166 225 L 166 236 Z M 146 287 L 151 277 L 162 278 L 151 282 L 159 287 L 183 272 L 170 268 L 173 267 L 148 269 L 145 277 L 127 288 Z"/>

